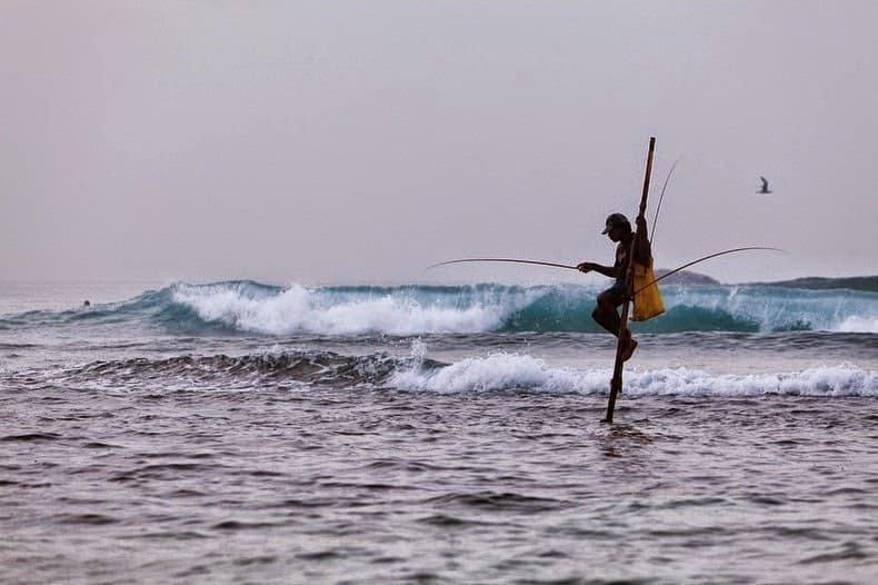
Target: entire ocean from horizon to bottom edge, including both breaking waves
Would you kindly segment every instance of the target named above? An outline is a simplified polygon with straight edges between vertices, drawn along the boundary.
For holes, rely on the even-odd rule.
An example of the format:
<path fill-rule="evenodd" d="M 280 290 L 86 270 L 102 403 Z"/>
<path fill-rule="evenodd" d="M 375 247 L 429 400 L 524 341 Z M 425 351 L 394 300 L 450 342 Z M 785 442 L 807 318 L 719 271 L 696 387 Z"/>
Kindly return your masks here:
<path fill-rule="evenodd" d="M 0 284 L 0 581 L 875 583 L 847 286 Z"/>

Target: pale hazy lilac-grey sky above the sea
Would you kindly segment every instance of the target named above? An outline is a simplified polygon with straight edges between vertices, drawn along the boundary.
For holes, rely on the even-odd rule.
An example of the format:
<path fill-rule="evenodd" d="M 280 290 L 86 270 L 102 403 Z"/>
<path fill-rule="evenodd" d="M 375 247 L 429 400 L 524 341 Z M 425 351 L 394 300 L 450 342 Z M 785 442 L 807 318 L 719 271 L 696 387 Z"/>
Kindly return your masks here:
<path fill-rule="evenodd" d="M 3 0 L 0 280 L 878 274 L 871 1 Z M 759 177 L 774 194 L 759 196 Z"/>

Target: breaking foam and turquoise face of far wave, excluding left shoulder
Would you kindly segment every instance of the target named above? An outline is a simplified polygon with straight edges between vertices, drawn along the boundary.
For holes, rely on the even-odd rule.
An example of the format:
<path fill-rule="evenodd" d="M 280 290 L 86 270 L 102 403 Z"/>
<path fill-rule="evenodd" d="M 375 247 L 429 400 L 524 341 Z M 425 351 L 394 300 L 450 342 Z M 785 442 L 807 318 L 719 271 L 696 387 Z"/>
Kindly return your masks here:
<path fill-rule="evenodd" d="M 174 303 L 199 318 L 241 331 L 288 335 L 475 334 L 517 330 L 598 331 L 585 287 L 396 287 L 279 289 L 253 282 L 176 285 Z M 657 331 L 819 330 L 878 333 L 874 295 L 766 287 L 671 287 Z M 695 309 L 695 310 L 694 310 Z"/>

